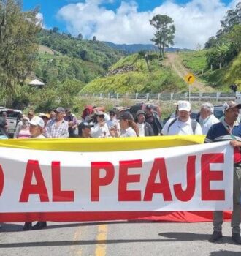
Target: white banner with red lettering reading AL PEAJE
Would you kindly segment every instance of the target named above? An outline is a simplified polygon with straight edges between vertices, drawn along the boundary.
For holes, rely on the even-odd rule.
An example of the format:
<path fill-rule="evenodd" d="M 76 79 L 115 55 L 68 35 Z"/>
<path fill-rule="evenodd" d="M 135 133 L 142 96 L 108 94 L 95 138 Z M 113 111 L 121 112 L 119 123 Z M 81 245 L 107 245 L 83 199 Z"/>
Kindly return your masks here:
<path fill-rule="evenodd" d="M 0 213 L 232 210 L 228 142 L 137 151 L 0 148 Z"/>

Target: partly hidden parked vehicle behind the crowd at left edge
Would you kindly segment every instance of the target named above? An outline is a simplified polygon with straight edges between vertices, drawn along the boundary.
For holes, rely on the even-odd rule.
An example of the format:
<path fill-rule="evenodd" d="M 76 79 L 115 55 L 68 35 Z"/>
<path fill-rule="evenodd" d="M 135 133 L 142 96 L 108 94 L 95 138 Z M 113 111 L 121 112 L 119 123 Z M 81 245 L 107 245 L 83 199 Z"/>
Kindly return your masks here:
<path fill-rule="evenodd" d="M 15 133 L 15 129 L 17 127 L 18 122 L 20 121 L 20 116 L 22 115 L 21 110 L 15 110 L 10 108 L 0 108 L 0 116 L 2 113 L 7 113 L 7 123 L 8 123 L 8 134 L 9 137 L 12 137 Z"/>

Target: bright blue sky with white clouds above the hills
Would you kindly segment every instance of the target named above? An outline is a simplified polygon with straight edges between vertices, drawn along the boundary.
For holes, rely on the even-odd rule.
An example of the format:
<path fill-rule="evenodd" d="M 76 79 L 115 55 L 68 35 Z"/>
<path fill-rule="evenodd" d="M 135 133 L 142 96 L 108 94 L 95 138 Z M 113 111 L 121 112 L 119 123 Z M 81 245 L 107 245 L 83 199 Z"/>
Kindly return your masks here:
<path fill-rule="evenodd" d="M 226 11 L 240 0 L 23 0 L 23 10 L 40 7 L 45 29 L 117 44 L 152 43 L 154 15 L 169 15 L 176 27 L 175 47 L 196 49 L 221 28 Z"/>

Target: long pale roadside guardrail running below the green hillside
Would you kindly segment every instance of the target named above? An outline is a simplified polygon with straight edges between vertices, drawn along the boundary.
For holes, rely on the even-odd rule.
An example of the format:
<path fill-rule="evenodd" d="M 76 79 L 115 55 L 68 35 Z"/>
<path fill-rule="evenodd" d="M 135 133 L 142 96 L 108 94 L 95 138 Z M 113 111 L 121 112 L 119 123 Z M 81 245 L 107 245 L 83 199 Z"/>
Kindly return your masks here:
<path fill-rule="evenodd" d="M 224 102 L 228 100 L 235 100 L 237 97 L 237 94 L 240 94 L 240 92 L 212 92 L 212 93 L 206 93 L 206 92 L 200 92 L 200 93 L 191 93 L 191 100 L 192 101 L 207 101 L 207 102 Z M 188 100 L 189 94 L 188 92 L 185 92 L 183 94 L 175 94 L 175 93 L 163 93 L 163 94 L 142 94 L 142 93 L 136 93 L 136 94 L 79 94 L 80 97 L 92 97 L 92 98 L 101 98 L 101 99 L 142 99 L 142 100 Z"/>

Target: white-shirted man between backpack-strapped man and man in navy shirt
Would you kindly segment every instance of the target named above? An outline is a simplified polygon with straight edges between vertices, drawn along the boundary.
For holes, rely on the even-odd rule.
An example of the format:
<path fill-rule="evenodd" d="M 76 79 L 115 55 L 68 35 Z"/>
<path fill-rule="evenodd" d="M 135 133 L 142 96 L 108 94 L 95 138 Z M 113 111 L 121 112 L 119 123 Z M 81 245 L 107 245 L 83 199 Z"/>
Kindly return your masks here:
<path fill-rule="evenodd" d="M 202 127 L 202 134 L 207 135 L 208 130 L 213 124 L 219 123 L 218 118 L 213 115 L 213 104 L 203 103 L 200 110 L 199 124 Z"/>

